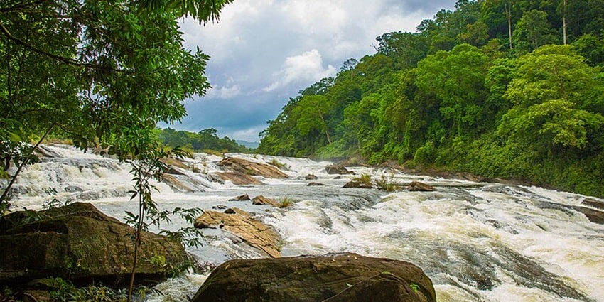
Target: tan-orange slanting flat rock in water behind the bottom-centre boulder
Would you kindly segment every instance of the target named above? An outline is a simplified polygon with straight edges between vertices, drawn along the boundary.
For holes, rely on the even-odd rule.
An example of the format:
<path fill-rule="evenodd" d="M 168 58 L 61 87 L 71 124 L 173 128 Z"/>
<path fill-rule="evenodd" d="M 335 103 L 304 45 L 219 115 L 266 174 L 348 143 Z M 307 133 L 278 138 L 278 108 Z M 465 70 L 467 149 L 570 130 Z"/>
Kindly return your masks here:
<path fill-rule="evenodd" d="M 270 257 L 281 257 L 279 234 L 237 207 L 231 207 L 225 212 L 205 211 L 195 219 L 193 225 L 198 228 L 221 227 Z"/>

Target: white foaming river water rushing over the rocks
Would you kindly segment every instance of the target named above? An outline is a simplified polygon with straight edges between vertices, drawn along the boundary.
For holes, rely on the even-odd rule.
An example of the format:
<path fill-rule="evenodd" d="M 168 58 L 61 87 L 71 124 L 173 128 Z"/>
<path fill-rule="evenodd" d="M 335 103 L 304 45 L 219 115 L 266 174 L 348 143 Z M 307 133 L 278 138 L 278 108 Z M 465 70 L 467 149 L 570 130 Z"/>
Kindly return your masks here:
<path fill-rule="evenodd" d="M 40 209 L 49 200 L 88 201 L 117 218 L 134 211 L 129 201 L 130 166 L 81 153 L 67 146 L 44 146 L 52 157 L 21 173 L 12 192 L 14 209 Z M 229 154 L 249 161 L 279 161 L 290 178 L 259 178 L 264 185 L 216 183 L 220 157 L 195 154 L 186 163 L 197 173 L 174 176 L 176 188 L 158 183 L 154 200 L 164 209 L 225 205 L 240 207 L 273 226 L 284 256 L 356 252 L 411 261 L 424 269 L 438 301 L 604 301 L 604 225 L 573 210 L 583 195 L 543 188 L 472 183 L 372 168 L 351 168 L 357 175 L 384 176 L 398 183 L 420 180 L 436 192 L 387 193 L 341 188 L 354 176 L 325 173 L 328 162 L 301 158 Z M 323 186 L 308 187 L 314 174 Z M 186 188 L 186 190 L 183 190 Z M 295 200 L 278 209 L 228 201 L 237 195 Z M 176 229 L 185 222 L 174 220 Z M 204 230 L 203 247 L 190 249 L 201 260 L 265 257 L 222 230 Z M 166 296 L 153 301 L 187 301 L 205 276 L 189 274 L 158 288 Z"/>

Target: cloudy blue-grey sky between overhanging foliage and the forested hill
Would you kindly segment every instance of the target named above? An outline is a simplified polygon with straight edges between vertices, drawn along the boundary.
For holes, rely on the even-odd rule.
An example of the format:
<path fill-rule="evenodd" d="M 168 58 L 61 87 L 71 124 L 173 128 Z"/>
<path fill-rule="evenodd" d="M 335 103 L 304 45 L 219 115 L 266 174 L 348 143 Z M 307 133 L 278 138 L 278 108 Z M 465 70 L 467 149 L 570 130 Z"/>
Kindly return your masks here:
<path fill-rule="evenodd" d="M 167 125 L 218 136 L 259 141 L 266 122 L 290 98 L 335 76 L 342 63 L 375 53 L 375 38 L 392 31 L 415 32 L 455 0 L 234 0 L 220 21 L 181 21 L 185 48 L 210 55 L 212 88 L 185 101 L 188 116 Z"/>

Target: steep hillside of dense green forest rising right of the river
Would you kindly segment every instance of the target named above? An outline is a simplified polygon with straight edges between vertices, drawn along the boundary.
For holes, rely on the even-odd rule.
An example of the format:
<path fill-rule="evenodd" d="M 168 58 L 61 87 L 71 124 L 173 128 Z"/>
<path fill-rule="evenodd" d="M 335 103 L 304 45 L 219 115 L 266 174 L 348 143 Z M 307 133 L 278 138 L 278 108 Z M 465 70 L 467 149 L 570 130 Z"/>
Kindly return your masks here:
<path fill-rule="evenodd" d="M 258 151 L 604 196 L 604 0 L 460 0 L 289 100 Z"/>

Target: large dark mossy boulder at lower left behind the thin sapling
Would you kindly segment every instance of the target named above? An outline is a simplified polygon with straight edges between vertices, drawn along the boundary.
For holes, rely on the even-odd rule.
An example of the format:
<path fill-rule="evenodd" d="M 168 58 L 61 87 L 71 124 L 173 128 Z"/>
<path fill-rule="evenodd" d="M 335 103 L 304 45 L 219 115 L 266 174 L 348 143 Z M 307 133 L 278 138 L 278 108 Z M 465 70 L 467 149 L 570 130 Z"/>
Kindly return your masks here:
<path fill-rule="evenodd" d="M 134 231 L 90 203 L 6 215 L 0 219 L 0 283 L 46 276 L 124 280 L 134 259 Z M 140 279 L 159 281 L 167 272 L 147 261 L 151 257 L 165 257 L 172 264 L 188 259 L 182 244 L 143 232 L 136 273 Z"/>

